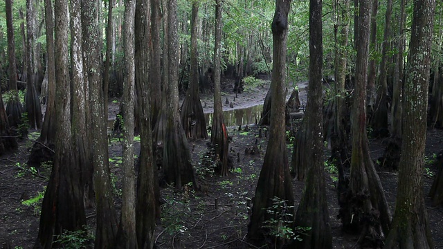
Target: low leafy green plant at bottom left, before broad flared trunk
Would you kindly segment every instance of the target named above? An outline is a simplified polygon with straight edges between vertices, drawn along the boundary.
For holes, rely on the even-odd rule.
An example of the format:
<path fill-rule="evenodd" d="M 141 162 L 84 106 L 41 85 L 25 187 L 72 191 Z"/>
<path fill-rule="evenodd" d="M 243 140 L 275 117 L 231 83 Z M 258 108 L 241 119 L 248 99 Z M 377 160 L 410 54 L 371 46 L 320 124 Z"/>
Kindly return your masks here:
<path fill-rule="evenodd" d="M 74 249 L 74 248 L 89 248 L 95 237 L 93 232 L 89 231 L 87 226 L 77 231 L 64 230 L 60 234 L 54 243 L 60 243 L 62 248 Z"/>

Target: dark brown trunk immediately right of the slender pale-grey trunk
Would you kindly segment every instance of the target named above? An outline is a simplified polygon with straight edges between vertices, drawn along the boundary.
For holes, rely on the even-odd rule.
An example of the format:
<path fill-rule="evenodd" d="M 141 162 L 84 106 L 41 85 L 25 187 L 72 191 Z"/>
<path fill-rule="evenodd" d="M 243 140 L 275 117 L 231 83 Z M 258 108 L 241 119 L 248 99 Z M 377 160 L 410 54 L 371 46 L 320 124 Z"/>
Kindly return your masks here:
<path fill-rule="evenodd" d="M 154 229 L 156 218 L 160 218 L 159 207 L 159 181 L 156 177 L 157 170 L 152 150 L 152 123 L 150 107 L 150 91 L 152 84 L 148 77 L 150 65 L 150 46 L 145 45 L 150 35 L 149 20 L 150 8 L 159 10 L 159 2 L 150 5 L 150 1 L 138 0 L 136 2 L 135 18 L 135 82 L 137 89 L 137 104 L 141 110 L 138 117 L 141 138 L 140 157 L 138 159 L 138 178 L 136 189 L 136 235 L 138 248 L 154 247 Z"/>

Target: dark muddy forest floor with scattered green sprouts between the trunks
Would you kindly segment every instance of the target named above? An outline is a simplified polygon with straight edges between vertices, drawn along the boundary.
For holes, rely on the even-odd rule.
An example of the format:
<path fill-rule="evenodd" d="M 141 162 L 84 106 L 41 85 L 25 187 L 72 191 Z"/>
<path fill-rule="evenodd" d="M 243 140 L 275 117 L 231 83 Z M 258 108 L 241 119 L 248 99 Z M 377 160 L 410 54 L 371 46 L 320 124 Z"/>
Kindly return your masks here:
<path fill-rule="evenodd" d="M 222 88 L 224 96 L 233 100 L 233 82 L 225 82 Z M 305 86 L 300 87 L 300 100 L 305 100 Z M 255 104 L 262 104 L 264 96 L 269 89 L 269 84 L 257 89 L 249 89 L 242 94 L 237 94 L 235 108 L 244 108 Z M 205 112 L 213 107 L 212 95 L 202 95 L 202 104 Z M 223 99 L 224 102 L 224 99 Z M 229 109 L 224 104 L 224 109 Z M 109 117 L 115 118 L 118 112 L 117 101 L 109 104 Z M 190 141 L 192 148 L 192 162 L 195 165 L 195 173 L 198 178 L 199 190 L 194 191 L 190 187 L 177 190 L 174 187 L 161 189 L 161 224 L 156 227 L 157 248 L 266 248 L 253 246 L 246 239 L 248 228 L 251 199 L 255 194 L 255 185 L 260 176 L 263 164 L 264 152 L 268 138 L 264 136 L 266 127 L 257 127 L 255 124 L 246 127 L 229 127 L 228 135 L 230 142 L 230 156 L 233 159 L 233 169 L 229 176 L 220 177 L 207 167 L 203 167 L 208 140 Z M 259 129 L 262 129 L 262 138 L 259 138 Z M 269 129 L 269 127 L 268 127 Z M 294 129 L 294 127 L 291 127 Z M 38 133 L 30 133 L 30 139 L 36 139 Z M 291 161 L 292 145 L 288 136 L 287 156 Z M 437 166 L 432 161 L 443 149 L 443 131 L 429 129 L 426 140 L 426 156 L 428 163 L 424 176 L 424 193 L 427 194 L 436 175 Z M 42 167 L 41 176 L 35 169 L 26 167 L 26 160 L 30 153 L 33 142 L 21 140 L 17 151 L 0 157 L 0 244 L 8 243 L 11 248 L 32 248 L 38 234 L 39 212 L 41 197 L 50 174 L 49 167 Z M 136 155 L 139 153 L 139 142 L 136 144 Z M 245 154 L 257 145 L 258 151 L 254 154 Z M 383 154 L 386 140 L 370 139 L 372 158 L 377 160 Z M 239 153 L 239 158 L 237 158 Z M 111 167 L 111 179 L 113 183 L 116 208 L 121 205 L 121 145 L 117 138 L 111 139 L 109 144 L 109 161 Z M 397 172 L 379 172 L 386 198 L 394 211 L 395 197 L 397 195 Z M 329 205 L 330 225 L 332 228 L 334 248 L 352 248 L 358 239 L 358 235 L 346 234 L 341 230 L 341 221 L 336 218 L 338 203 L 336 188 L 333 181 L 336 178 L 334 172 L 328 172 L 327 201 Z M 302 196 L 303 182 L 293 181 L 295 193 L 295 207 Z M 30 200 L 27 201 L 26 200 Z M 25 201 L 25 202 L 24 202 Z M 217 203 L 217 208 L 215 203 Z M 426 207 L 431 223 L 431 231 L 436 248 L 443 248 L 443 208 L 431 207 L 426 198 Z M 93 231 L 95 226 L 95 211 L 87 210 L 89 228 Z M 75 239 L 78 235 L 71 234 L 66 238 Z M 73 247 L 75 248 L 75 247 Z M 77 247 L 78 248 L 78 247 Z"/>

